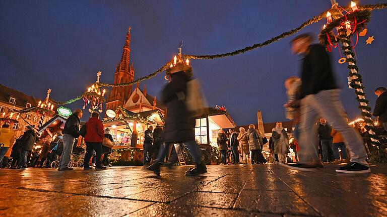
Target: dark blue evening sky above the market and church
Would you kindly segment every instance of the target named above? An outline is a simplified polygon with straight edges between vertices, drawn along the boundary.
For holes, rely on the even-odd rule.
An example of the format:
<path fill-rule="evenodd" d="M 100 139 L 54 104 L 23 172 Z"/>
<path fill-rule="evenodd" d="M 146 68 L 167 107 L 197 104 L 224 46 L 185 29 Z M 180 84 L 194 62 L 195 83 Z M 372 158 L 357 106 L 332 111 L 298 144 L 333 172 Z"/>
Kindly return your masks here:
<path fill-rule="evenodd" d="M 338 0 L 341 6 L 350 1 Z M 358 5 L 379 1 L 357 1 Z M 96 80 L 113 82 L 125 34 L 132 27 L 131 62 L 136 78 L 156 71 L 177 53 L 218 54 L 266 41 L 298 27 L 331 7 L 319 1 L 0 1 L 0 75 L 3 85 L 44 98 L 52 89 L 56 100 L 81 95 Z M 365 91 L 374 106 L 373 90 L 387 86 L 387 9 L 372 13 L 368 30 L 375 41 L 356 47 Z M 300 33 L 316 35 L 326 20 Z M 211 106 L 224 105 L 238 125 L 286 121 L 284 80 L 299 74 L 300 56 L 290 52 L 291 36 L 264 48 L 216 60 L 192 60 Z M 346 64 L 332 62 L 350 118 L 360 115 Z M 141 83 L 159 96 L 164 73 Z M 82 107 L 82 102 L 67 105 Z"/>

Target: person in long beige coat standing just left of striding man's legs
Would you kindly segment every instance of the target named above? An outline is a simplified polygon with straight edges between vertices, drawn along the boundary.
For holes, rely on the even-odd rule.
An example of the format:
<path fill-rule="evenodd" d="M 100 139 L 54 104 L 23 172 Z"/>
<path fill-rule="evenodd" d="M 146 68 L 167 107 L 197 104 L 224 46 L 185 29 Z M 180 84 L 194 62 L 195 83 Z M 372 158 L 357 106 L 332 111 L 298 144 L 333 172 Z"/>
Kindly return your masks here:
<path fill-rule="evenodd" d="M 286 154 L 290 153 L 288 134 L 282 127 L 282 122 L 277 122 L 272 130 L 274 153 L 278 154 L 278 161 L 285 163 Z"/>

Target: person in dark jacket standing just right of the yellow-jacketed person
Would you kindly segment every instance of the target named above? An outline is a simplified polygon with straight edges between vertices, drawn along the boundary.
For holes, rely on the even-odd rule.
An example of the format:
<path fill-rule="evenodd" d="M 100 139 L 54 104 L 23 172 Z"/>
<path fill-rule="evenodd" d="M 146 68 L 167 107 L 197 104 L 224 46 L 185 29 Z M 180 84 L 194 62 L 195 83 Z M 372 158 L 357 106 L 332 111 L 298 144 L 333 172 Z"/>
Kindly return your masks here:
<path fill-rule="evenodd" d="M 38 141 L 38 137 L 34 131 L 35 126 L 27 126 L 27 131 L 24 132 L 22 138 L 20 139 L 21 145 L 19 147 L 20 156 L 19 156 L 19 165 L 17 169 L 26 169 L 27 168 L 27 154 L 32 151 L 34 148 L 35 142 Z"/>

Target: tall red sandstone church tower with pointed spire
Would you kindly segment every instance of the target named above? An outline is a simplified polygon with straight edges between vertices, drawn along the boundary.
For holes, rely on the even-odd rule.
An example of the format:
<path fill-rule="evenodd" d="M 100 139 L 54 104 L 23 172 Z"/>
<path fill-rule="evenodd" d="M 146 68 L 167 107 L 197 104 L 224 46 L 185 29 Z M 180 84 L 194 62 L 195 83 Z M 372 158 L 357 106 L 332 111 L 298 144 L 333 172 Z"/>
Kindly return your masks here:
<path fill-rule="evenodd" d="M 131 55 L 131 27 L 128 28 L 126 33 L 126 42 L 123 46 L 123 52 L 121 61 L 117 64 L 114 74 L 114 84 L 127 83 L 134 80 L 135 69 L 133 68 L 133 63 L 130 64 L 130 55 Z M 111 90 L 107 102 L 106 110 L 113 110 L 121 105 L 123 106 L 125 101 L 132 94 L 132 85 L 122 86 L 122 87 L 113 87 Z"/>

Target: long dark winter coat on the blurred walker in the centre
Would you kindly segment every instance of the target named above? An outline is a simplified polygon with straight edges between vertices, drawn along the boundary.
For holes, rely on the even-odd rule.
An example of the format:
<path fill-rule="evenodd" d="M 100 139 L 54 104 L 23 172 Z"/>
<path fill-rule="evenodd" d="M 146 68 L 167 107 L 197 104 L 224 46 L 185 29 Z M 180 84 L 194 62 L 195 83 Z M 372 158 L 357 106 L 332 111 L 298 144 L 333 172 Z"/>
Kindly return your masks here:
<path fill-rule="evenodd" d="M 184 72 L 176 72 L 162 91 L 162 102 L 167 106 L 164 126 L 164 142 L 182 143 L 195 139 L 193 128 L 195 118 L 187 111 L 185 96 L 189 77 Z"/>

